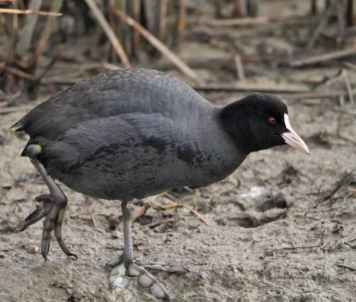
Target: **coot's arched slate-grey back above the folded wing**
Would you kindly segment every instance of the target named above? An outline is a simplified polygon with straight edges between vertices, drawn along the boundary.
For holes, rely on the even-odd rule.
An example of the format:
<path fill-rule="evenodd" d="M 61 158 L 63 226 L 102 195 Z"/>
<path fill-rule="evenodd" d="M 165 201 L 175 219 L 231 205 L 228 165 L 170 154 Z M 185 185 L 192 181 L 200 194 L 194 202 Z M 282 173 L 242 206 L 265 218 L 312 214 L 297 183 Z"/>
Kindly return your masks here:
<path fill-rule="evenodd" d="M 119 69 L 56 93 L 14 127 L 29 134 L 30 142 L 37 137 L 53 141 L 75 124 L 93 118 L 138 112 L 184 122 L 206 114 L 211 107 L 176 77 L 149 69 Z"/>

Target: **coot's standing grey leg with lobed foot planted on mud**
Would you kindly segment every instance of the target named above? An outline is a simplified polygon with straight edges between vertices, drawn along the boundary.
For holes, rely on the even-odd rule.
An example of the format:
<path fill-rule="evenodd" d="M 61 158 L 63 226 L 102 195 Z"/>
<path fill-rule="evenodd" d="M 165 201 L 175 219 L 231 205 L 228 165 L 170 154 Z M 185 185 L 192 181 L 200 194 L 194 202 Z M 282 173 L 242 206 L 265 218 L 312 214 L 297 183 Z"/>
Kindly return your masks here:
<path fill-rule="evenodd" d="M 132 237 L 131 237 L 131 221 L 130 221 L 131 203 L 122 201 L 122 218 L 124 220 L 124 252 L 118 258 L 115 258 L 106 263 L 106 268 L 113 268 L 110 272 L 109 287 L 124 287 L 125 274 L 127 270 L 128 276 L 136 276 L 137 283 L 143 288 L 150 288 L 151 295 L 157 299 L 172 301 L 164 286 L 157 281 L 145 268 L 162 270 L 169 273 L 185 274 L 190 271 L 185 266 L 181 265 L 159 265 L 154 263 L 140 263 L 133 260 Z"/>

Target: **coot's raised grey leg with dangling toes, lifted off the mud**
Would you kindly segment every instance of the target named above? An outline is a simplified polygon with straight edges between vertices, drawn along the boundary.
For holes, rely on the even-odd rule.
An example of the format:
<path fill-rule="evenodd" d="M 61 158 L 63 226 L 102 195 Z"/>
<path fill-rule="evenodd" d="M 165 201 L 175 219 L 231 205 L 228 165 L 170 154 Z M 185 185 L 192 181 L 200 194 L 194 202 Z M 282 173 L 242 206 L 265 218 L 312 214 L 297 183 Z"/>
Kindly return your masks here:
<path fill-rule="evenodd" d="M 47 260 L 49 251 L 49 241 L 51 239 L 52 228 L 54 228 L 54 234 L 63 252 L 68 256 L 74 256 L 78 258 L 75 254 L 69 251 L 62 239 L 62 222 L 68 202 L 67 197 L 64 195 L 61 188 L 59 188 L 58 185 L 54 182 L 53 178 L 48 175 L 42 163 L 37 159 L 37 155 L 41 153 L 41 146 L 29 145 L 26 149 L 26 152 L 33 166 L 35 166 L 38 173 L 40 173 L 43 180 L 45 181 L 51 194 L 37 196 L 36 201 L 43 201 L 42 209 L 33 211 L 24 222 L 20 223 L 16 227 L 15 231 L 23 231 L 28 226 L 36 223 L 43 217 L 46 217 L 45 222 L 43 223 L 41 243 L 41 254 L 45 261 Z"/>

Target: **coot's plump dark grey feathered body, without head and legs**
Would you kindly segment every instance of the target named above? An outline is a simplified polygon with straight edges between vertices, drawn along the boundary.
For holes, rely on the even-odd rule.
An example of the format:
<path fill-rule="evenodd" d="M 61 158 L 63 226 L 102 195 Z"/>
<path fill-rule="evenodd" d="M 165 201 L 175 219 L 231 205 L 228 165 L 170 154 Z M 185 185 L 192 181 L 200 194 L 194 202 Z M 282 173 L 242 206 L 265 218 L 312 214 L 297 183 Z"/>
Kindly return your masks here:
<path fill-rule="evenodd" d="M 14 126 L 42 146 L 47 172 L 69 188 L 132 199 L 216 182 L 240 165 L 246 155 L 218 112 L 175 77 L 124 69 L 57 93 Z"/>

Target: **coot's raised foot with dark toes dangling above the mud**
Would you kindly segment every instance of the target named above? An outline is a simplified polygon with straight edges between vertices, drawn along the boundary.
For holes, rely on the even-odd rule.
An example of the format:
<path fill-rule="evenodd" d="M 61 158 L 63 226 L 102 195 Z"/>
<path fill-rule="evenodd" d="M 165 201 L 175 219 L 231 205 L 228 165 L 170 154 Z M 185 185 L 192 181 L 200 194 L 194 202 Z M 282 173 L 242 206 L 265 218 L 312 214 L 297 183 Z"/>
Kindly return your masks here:
<path fill-rule="evenodd" d="M 43 217 L 46 217 L 43 223 L 42 232 L 42 243 L 41 243 L 41 254 L 45 261 L 47 260 L 47 255 L 49 252 L 49 241 L 51 239 L 52 228 L 56 236 L 57 242 L 63 252 L 68 256 L 74 256 L 78 258 L 77 255 L 71 253 L 67 248 L 66 244 L 62 239 L 62 222 L 64 212 L 66 211 L 66 206 L 63 207 L 61 202 L 58 202 L 50 194 L 44 194 L 37 196 L 35 198 L 37 202 L 43 202 L 41 208 L 36 209 L 30 215 L 28 215 L 25 221 L 19 223 L 13 232 L 22 232 L 26 228 L 34 223 L 40 221 Z"/>

